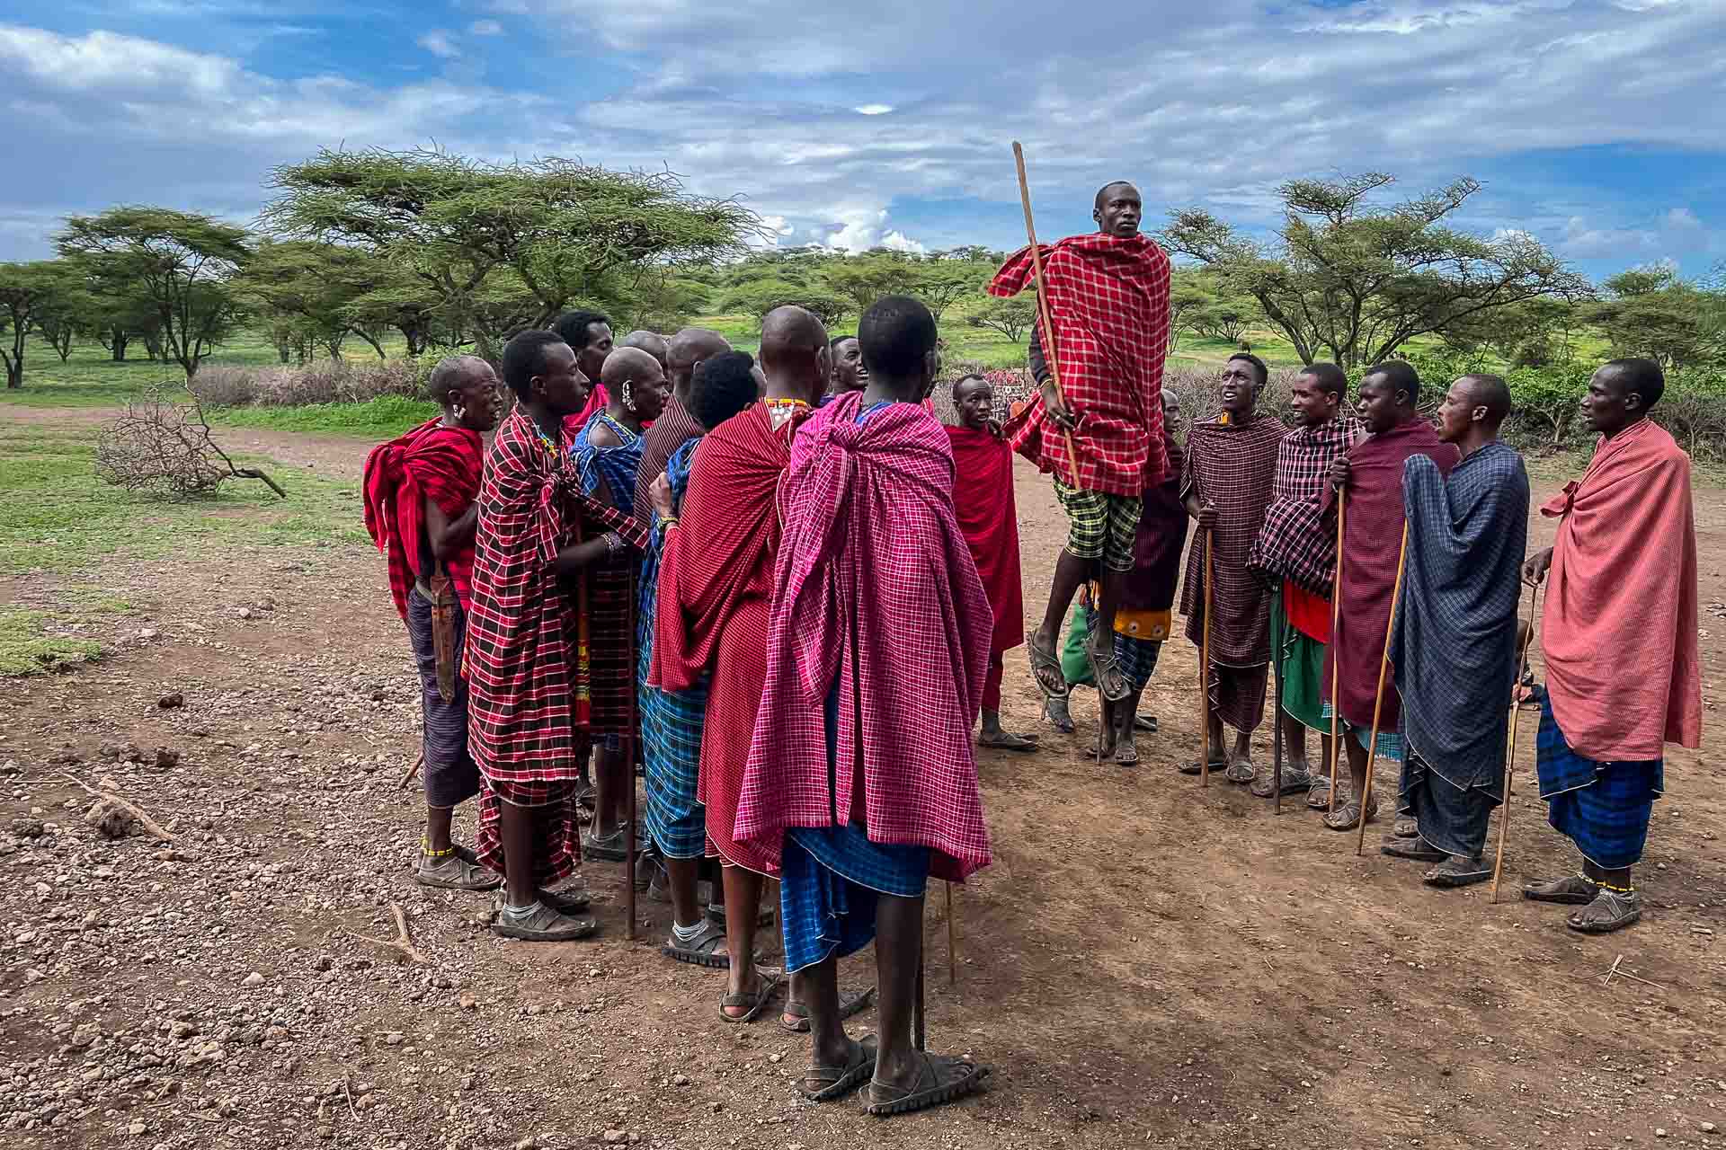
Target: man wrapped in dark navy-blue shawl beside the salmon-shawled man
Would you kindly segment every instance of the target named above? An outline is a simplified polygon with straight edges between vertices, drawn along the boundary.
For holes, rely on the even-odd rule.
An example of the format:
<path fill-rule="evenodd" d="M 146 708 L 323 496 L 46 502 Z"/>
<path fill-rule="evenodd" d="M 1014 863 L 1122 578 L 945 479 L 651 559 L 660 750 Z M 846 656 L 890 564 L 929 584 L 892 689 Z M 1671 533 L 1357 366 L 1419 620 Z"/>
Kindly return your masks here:
<path fill-rule="evenodd" d="M 1391 836 L 1381 850 L 1436 862 L 1429 886 L 1493 876 L 1486 822 L 1503 803 L 1517 572 L 1528 545 L 1528 471 L 1498 438 L 1509 414 L 1503 379 L 1464 376 L 1438 407 L 1438 438 L 1462 462 L 1448 476 L 1426 455 L 1403 464 L 1408 557 L 1391 666 L 1403 712 L 1398 809 L 1420 833 Z"/>

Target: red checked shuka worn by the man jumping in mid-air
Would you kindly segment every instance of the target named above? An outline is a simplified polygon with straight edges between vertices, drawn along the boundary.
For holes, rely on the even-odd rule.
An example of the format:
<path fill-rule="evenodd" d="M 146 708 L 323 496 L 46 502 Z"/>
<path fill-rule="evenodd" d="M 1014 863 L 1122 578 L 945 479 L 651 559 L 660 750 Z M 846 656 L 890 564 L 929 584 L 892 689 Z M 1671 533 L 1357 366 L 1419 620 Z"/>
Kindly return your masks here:
<path fill-rule="evenodd" d="M 1024 248 L 996 272 L 989 295 L 1018 295 L 1030 283 L 1030 248 Z M 1043 248 L 1043 295 L 1055 324 L 1061 397 L 1079 417 L 1072 433 L 1077 472 L 1067 434 L 1049 422 L 1041 395 L 1006 422 L 1008 443 L 1067 486 L 1137 497 L 1169 467 L 1162 400 L 1169 257 L 1144 236 L 1070 236 Z M 1041 343 L 1049 348 L 1048 333 Z"/>

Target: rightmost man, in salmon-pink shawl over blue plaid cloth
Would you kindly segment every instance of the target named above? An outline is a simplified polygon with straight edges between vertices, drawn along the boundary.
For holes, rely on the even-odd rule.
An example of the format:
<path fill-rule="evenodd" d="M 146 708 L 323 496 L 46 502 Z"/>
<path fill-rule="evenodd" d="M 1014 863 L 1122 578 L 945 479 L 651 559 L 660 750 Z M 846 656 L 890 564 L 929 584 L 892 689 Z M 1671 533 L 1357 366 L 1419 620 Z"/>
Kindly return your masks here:
<path fill-rule="evenodd" d="M 1579 905 L 1569 928 L 1584 934 L 1641 917 L 1631 867 L 1664 790 L 1664 745 L 1702 741 L 1690 457 L 1648 419 L 1662 391 L 1666 378 L 1647 359 L 1616 359 L 1588 381 L 1595 459 L 1540 509 L 1560 521 L 1559 540 L 1522 569 L 1534 584 L 1552 576 L 1540 629 L 1540 797 L 1583 855 L 1579 874 L 1522 895 Z"/>

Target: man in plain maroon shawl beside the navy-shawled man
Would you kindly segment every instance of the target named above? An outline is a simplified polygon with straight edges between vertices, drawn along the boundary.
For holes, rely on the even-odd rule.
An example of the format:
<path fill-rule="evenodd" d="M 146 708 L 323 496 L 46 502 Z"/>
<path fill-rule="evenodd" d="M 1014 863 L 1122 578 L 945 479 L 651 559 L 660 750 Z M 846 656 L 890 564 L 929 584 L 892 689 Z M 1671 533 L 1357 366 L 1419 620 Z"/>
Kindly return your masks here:
<path fill-rule="evenodd" d="M 1329 695 L 1331 669 L 1338 669 L 1338 695 L 1326 702 L 1341 721 L 1348 748 L 1350 790 L 1336 793 L 1336 809 L 1324 824 L 1332 831 L 1351 831 L 1362 819 L 1377 814 L 1377 797 L 1362 810 L 1362 793 L 1372 759 L 1402 759 L 1402 712 L 1396 691 L 1379 672 L 1386 657 L 1396 576 L 1402 566 L 1403 533 L 1403 464 L 1412 455 L 1427 455 L 1439 476 L 1457 466 L 1457 448 L 1441 443 L 1433 424 L 1420 417 L 1420 376 L 1403 360 L 1379 364 L 1360 381 L 1357 414 L 1367 426 L 1367 438 L 1331 464 L 1331 491 L 1326 514 L 1336 514 L 1336 498 L 1346 497 L 1343 521 L 1341 597 L 1336 629 L 1324 660 L 1324 688 Z M 1334 522 L 1334 521 L 1332 521 Z M 1383 688 L 1383 690 L 1381 690 Z M 1374 719 L 1381 741 L 1369 748 Z M 1334 748 L 1332 755 L 1341 755 Z M 1341 779 L 1338 779 L 1341 786 Z"/>

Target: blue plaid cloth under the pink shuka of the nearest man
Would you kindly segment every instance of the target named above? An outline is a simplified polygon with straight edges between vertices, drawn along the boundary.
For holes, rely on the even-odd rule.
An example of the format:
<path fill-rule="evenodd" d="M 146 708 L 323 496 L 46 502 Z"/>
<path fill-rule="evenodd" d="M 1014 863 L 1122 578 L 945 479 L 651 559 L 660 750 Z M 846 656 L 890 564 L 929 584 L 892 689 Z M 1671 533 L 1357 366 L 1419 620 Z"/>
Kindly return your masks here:
<path fill-rule="evenodd" d="M 827 693 L 827 771 L 839 755 L 839 683 Z M 842 959 L 875 938 L 875 895 L 920 898 L 929 847 L 873 843 L 861 826 L 792 828 L 780 850 L 785 971 Z"/>

